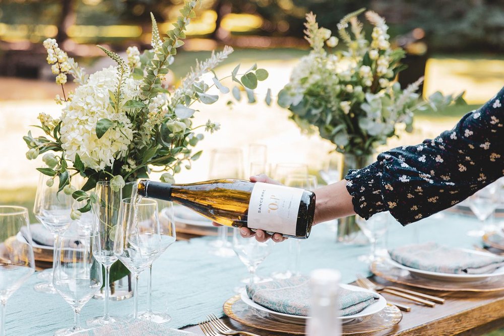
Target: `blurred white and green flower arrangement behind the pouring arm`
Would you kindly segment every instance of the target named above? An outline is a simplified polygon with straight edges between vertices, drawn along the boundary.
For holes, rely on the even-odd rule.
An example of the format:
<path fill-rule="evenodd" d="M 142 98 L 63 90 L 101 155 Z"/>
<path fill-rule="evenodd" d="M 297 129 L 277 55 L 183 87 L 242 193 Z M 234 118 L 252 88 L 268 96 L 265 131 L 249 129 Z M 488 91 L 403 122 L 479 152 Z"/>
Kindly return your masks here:
<path fill-rule="evenodd" d="M 463 93 L 443 96 L 436 92 L 421 99 L 417 91 L 423 78 L 401 89 L 395 79 L 405 69 L 400 63 L 405 52 L 391 48 L 385 20 L 372 11 L 365 13 L 373 26 L 371 39 L 366 39 L 357 19 L 363 11 L 339 22 L 345 46 L 335 51 L 340 39 L 319 27 L 315 15 L 306 15 L 304 33 L 312 50 L 301 58 L 278 97 L 279 105 L 292 112 L 301 129 L 318 130 L 336 145 L 336 151 L 352 155 L 372 154 L 376 146 L 397 136 L 398 124 L 410 132 L 414 111 L 463 103 Z"/>

